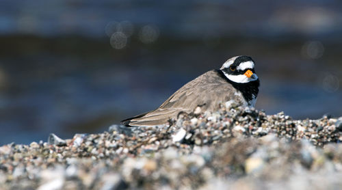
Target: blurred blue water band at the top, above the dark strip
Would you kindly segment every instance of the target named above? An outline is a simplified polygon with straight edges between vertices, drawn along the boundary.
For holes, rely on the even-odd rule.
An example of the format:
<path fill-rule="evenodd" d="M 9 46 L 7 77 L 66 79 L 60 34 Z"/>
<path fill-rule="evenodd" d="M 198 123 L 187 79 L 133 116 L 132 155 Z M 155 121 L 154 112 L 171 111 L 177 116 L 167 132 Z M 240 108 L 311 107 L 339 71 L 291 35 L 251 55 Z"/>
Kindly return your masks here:
<path fill-rule="evenodd" d="M 1 1 L 0 33 L 101 37 L 109 22 L 150 23 L 183 38 L 278 36 L 284 33 L 339 36 L 342 2 L 290 1 Z M 136 28 L 133 28 L 136 29 Z M 330 36 L 331 37 L 331 36 Z M 341 37 L 340 37 L 341 38 Z"/>

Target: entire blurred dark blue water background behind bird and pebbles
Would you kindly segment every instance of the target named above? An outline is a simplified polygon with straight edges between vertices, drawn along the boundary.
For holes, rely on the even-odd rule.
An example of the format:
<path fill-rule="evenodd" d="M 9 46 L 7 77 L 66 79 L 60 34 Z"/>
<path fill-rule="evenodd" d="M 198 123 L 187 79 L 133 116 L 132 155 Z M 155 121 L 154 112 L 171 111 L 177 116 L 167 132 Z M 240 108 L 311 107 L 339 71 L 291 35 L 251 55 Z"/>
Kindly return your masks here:
<path fill-rule="evenodd" d="M 342 1 L 0 2 L 0 145 L 98 133 L 250 55 L 257 109 L 342 116 Z"/>

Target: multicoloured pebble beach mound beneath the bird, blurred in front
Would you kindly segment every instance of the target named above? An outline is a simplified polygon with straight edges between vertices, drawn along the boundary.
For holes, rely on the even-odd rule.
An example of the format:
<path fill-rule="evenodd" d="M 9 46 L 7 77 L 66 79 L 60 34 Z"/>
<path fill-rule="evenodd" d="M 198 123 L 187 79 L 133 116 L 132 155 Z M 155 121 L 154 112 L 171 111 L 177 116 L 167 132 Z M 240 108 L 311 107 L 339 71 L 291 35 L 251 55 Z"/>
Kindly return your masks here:
<path fill-rule="evenodd" d="M 342 117 L 226 103 L 170 126 L 110 126 L 0 147 L 0 189 L 340 189 Z"/>

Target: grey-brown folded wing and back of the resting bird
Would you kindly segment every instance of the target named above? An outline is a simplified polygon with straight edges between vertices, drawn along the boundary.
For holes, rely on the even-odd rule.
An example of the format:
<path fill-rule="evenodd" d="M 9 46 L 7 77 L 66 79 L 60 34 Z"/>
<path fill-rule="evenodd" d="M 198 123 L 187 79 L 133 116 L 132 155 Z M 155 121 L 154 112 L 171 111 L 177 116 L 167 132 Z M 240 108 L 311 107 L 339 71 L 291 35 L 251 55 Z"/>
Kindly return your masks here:
<path fill-rule="evenodd" d="M 190 113 L 198 105 L 202 105 L 203 110 L 218 109 L 218 104 L 231 100 L 235 92 L 235 88 L 218 71 L 211 70 L 183 85 L 157 109 L 121 123 L 129 126 L 166 124 L 170 118 L 176 118 L 180 111 Z"/>

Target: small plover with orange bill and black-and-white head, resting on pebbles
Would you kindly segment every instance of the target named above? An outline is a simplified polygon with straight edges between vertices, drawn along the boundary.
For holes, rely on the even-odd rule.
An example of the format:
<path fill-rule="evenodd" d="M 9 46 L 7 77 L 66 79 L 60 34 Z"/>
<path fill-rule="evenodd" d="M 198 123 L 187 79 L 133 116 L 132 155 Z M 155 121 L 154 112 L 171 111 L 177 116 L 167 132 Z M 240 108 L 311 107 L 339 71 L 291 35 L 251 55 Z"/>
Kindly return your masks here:
<path fill-rule="evenodd" d="M 216 111 L 219 103 L 235 100 L 244 107 L 254 107 L 259 92 L 259 77 L 251 57 L 241 55 L 228 59 L 218 70 L 210 70 L 189 81 L 153 111 L 122 120 L 126 126 L 156 126 L 168 124 L 179 113 Z"/>

